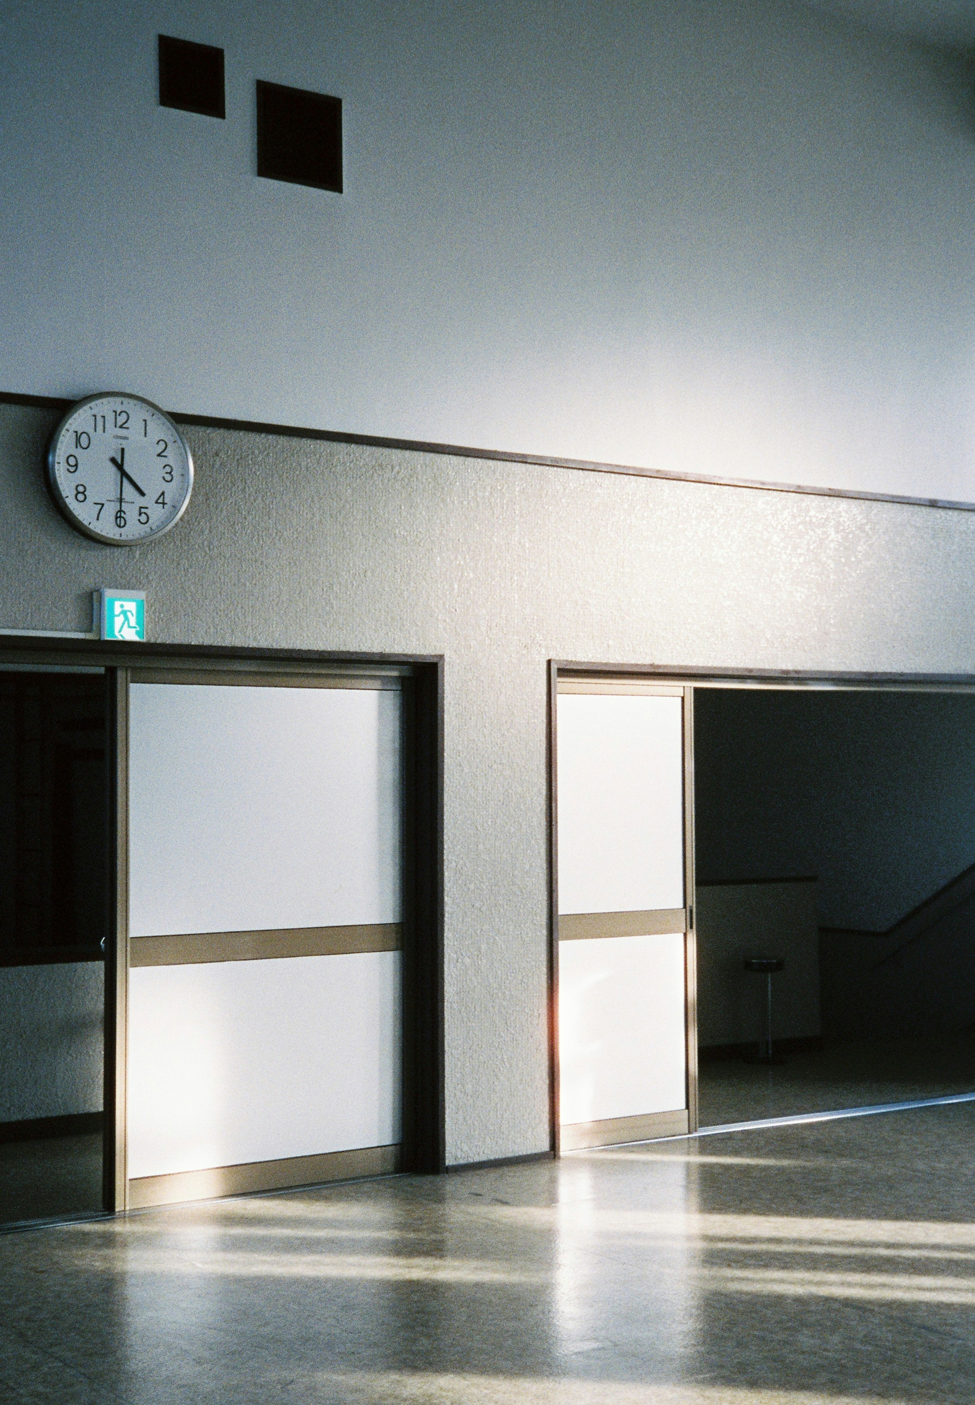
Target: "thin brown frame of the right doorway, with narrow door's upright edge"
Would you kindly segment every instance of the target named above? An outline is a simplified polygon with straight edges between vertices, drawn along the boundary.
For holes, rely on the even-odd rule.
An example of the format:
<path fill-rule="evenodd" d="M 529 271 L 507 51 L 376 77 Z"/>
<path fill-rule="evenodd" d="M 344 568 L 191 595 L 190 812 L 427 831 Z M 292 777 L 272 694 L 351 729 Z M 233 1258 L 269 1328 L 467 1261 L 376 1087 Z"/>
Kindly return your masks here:
<path fill-rule="evenodd" d="M 776 691 L 975 693 L 971 673 L 867 673 L 799 669 L 708 669 L 656 663 L 591 663 L 548 660 L 548 1096 L 549 1145 L 561 1155 L 559 1124 L 559 871 L 558 871 L 558 686 L 561 680 L 660 683 L 684 694 L 684 832 L 688 933 L 686 948 L 687 1107 L 697 1131 L 697 939 L 694 889 L 694 688 L 756 688 Z"/>

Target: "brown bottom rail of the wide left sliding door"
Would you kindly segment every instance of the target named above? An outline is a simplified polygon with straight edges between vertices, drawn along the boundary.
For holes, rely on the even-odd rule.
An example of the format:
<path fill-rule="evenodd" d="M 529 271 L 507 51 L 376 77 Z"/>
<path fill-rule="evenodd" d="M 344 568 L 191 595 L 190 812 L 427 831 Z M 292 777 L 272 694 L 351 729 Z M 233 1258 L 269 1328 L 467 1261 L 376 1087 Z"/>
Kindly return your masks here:
<path fill-rule="evenodd" d="M 249 1161 L 239 1166 L 177 1170 L 170 1176 L 138 1176 L 129 1180 L 129 1210 L 176 1205 L 183 1200 L 216 1200 L 292 1186 L 320 1186 L 330 1180 L 392 1176 L 399 1170 L 400 1146 L 361 1146 L 326 1151 L 318 1156 L 284 1156 L 281 1161 Z"/>

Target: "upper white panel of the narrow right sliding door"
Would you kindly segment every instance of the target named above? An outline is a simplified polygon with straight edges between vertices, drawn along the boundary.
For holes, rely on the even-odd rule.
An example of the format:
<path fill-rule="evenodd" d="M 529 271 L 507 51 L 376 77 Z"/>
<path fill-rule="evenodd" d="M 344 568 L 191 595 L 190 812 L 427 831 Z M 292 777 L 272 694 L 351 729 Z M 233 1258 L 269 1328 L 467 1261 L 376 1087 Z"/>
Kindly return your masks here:
<path fill-rule="evenodd" d="M 559 912 L 684 906 L 680 697 L 558 700 Z"/>

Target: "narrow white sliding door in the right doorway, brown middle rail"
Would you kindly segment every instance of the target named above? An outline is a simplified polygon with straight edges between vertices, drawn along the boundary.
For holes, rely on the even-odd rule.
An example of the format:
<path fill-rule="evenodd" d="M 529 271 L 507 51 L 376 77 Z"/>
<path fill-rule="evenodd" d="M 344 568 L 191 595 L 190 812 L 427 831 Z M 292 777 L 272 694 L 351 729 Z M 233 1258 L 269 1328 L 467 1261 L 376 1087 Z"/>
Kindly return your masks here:
<path fill-rule="evenodd" d="M 686 1132 L 690 697 L 561 680 L 556 738 L 561 1146 Z"/>

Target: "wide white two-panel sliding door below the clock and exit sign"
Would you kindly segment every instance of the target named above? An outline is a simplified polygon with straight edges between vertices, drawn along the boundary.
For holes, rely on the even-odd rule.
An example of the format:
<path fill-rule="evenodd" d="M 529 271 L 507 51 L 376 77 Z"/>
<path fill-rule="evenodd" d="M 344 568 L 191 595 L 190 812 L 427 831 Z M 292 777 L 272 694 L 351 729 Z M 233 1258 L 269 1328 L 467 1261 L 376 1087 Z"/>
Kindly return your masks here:
<path fill-rule="evenodd" d="M 139 677 L 129 1204 L 396 1169 L 399 680 Z"/>

